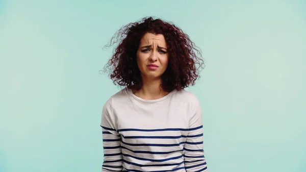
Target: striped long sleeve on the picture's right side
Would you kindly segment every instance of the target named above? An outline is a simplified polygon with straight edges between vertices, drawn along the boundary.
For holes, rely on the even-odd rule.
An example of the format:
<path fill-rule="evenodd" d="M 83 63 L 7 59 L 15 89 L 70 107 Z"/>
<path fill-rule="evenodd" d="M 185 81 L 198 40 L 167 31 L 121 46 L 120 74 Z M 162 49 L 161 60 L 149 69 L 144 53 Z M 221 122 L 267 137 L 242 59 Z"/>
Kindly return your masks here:
<path fill-rule="evenodd" d="M 202 111 L 198 101 L 194 104 L 189 121 L 187 141 L 184 145 L 185 169 L 187 172 L 208 172 L 203 151 Z"/>

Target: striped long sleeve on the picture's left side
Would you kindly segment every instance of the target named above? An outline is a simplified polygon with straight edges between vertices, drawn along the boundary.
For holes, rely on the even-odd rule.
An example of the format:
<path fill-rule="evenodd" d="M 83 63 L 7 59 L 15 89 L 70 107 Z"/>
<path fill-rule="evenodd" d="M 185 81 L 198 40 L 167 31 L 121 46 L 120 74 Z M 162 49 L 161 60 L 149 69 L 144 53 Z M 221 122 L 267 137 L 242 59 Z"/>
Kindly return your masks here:
<path fill-rule="evenodd" d="M 102 110 L 101 128 L 103 135 L 104 162 L 102 172 L 122 171 L 121 137 L 112 110 L 112 100 L 108 100 Z"/>

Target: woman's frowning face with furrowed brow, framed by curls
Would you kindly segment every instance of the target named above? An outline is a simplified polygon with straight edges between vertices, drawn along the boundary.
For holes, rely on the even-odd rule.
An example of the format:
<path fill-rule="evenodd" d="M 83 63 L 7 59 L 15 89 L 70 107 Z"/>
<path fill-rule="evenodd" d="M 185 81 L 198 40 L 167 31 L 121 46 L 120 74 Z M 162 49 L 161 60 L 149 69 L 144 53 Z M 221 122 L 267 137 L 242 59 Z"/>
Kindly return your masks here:
<path fill-rule="evenodd" d="M 167 69 L 168 60 L 164 35 L 146 33 L 137 51 L 137 64 L 142 78 L 159 79 Z"/>

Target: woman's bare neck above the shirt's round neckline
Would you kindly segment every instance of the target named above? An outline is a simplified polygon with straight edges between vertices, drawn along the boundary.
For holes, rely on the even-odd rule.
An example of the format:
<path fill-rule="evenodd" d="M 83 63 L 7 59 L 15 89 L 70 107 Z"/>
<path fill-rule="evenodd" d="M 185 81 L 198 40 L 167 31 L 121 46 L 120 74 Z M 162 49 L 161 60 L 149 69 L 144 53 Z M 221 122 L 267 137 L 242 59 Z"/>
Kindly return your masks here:
<path fill-rule="evenodd" d="M 142 80 L 142 88 L 134 94 L 141 99 L 145 100 L 155 100 L 160 99 L 161 97 L 167 95 L 169 92 L 164 91 L 161 87 L 162 80 L 148 80 L 143 79 Z"/>

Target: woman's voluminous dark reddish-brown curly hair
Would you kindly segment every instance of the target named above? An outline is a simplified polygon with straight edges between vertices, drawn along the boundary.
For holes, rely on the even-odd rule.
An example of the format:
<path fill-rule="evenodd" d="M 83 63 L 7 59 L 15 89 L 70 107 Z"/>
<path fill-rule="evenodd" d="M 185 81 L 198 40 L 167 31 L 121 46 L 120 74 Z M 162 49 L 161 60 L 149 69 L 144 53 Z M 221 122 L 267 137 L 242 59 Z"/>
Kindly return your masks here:
<path fill-rule="evenodd" d="M 161 76 L 161 87 L 165 91 L 181 90 L 194 85 L 203 68 L 200 48 L 190 40 L 180 28 L 160 18 L 145 17 L 119 29 L 105 47 L 118 43 L 114 54 L 105 66 L 110 70 L 113 83 L 133 90 L 142 87 L 141 73 L 137 65 L 136 53 L 141 38 L 146 33 L 163 34 L 167 43 L 169 63 Z"/>

